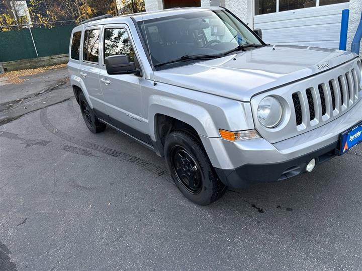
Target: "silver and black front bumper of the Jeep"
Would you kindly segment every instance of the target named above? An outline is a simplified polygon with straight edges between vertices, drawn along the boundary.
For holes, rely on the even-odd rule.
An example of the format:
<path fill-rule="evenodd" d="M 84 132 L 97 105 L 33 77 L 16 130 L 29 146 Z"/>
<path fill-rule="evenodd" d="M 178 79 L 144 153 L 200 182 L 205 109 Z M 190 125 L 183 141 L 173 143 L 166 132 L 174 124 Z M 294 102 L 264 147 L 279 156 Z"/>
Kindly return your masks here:
<path fill-rule="evenodd" d="M 263 138 L 237 142 L 200 138 L 220 179 L 226 185 L 238 188 L 300 174 L 312 158 L 318 158 L 317 163 L 332 158 L 340 134 L 361 120 L 362 100 L 339 118 L 274 144 Z"/>

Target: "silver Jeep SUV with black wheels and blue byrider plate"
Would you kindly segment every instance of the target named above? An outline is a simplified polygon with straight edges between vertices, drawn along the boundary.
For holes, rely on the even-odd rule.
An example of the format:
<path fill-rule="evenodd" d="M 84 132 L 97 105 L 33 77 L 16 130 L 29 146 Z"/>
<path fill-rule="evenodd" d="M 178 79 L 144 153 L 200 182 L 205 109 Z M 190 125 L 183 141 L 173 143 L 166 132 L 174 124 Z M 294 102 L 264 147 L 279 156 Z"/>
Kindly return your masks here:
<path fill-rule="evenodd" d="M 164 156 L 197 204 L 227 186 L 310 172 L 362 140 L 354 53 L 265 44 L 224 8 L 111 17 L 72 32 L 68 70 L 84 122 Z"/>

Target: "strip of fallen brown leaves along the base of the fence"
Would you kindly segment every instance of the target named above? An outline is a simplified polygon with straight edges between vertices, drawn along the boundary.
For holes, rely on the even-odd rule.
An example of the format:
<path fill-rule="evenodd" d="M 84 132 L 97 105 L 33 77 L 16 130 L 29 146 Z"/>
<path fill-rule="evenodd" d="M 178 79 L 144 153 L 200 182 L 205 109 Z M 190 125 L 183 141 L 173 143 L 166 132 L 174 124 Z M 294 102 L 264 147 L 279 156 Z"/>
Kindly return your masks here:
<path fill-rule="evenodd" d="M 23 69 L 23 70 L 14 70 L 6 73 L 0 74 L 0 79 L 4 78 L 3 80 L 0 80 L 4 84 L 20 84 L 26 80 L 29 80 L 27 78 L 24 78 L 26 76 L 36 75 L 39 73 L 46 72 L 47 70 L 54 70 L 54 69 L 60 69 L 65 68 L 66 64 L 58 64 L 53 66 L 46 66 L 46 67 L 40 67 L 35 69 Z"/>

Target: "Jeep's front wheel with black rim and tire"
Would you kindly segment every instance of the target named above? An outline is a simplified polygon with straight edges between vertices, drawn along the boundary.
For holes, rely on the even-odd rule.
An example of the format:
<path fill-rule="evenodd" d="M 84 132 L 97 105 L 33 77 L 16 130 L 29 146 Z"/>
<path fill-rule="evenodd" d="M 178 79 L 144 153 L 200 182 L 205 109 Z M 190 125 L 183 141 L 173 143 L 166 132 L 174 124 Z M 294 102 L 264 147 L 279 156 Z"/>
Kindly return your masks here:
<path fill-rule="evenodd" d="M 177 188 L 199 205 L 218 200 L 226 187 L 221 183 L 200 139 L 189 131 L 173 131 L 165 141 L 165 159 Z"/>

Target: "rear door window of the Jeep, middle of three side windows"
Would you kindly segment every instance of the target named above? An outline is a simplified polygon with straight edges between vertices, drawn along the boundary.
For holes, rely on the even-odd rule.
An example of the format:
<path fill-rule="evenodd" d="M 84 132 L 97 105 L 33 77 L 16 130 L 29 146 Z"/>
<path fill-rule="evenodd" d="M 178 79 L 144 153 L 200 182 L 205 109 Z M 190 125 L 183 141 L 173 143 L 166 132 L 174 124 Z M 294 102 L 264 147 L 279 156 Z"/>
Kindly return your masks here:
<path fill-rule="evenodd" d="M 99 29 L 84 31 L 83 60 L 98 63 Z"/>

